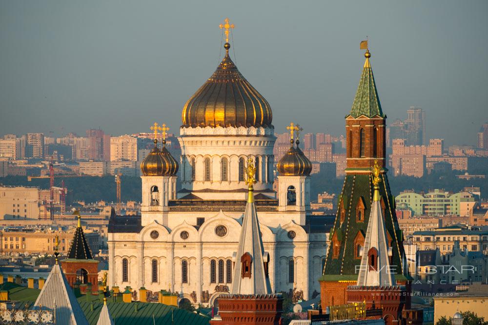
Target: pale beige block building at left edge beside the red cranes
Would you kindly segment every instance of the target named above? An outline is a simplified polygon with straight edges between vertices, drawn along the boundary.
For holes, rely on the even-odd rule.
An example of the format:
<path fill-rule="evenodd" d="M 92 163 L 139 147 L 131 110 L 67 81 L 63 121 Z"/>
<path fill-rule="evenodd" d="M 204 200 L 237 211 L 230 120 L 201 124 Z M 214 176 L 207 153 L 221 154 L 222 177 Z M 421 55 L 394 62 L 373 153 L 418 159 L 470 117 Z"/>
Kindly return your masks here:
<path fill-rule="evenodd" d="M 35 187 L 0 187 L 0 219 L 39 218 L 39 189 Z"/>

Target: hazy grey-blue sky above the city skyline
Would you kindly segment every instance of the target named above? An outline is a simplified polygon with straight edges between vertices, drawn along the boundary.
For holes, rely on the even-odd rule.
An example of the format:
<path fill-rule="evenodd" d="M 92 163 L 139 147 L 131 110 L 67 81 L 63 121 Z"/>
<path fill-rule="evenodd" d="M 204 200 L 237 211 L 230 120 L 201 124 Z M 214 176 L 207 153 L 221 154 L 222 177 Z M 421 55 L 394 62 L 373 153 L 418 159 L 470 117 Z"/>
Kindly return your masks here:
<path fill-rule="evenodd" d="M 290 120 L 344 133 L 366 35 L 387 123 L 420 106 L 427 138 L 475 144 L 488 120 L 486 0 L 3 0 L 0 134 L 129 134 L 154 121 L 178 133 L 183 104 L 224 53 L 225 17 L 231 57 L 279 133 Z"/>

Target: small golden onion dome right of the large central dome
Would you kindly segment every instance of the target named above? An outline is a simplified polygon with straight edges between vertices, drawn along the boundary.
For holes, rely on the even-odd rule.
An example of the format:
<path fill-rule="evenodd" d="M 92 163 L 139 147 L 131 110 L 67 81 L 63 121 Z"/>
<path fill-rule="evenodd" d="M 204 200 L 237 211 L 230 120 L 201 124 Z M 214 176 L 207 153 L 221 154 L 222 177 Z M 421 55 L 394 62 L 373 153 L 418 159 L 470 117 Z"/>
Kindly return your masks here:
<path fill-rule="evenodd" d="M 278 162 L 278 172 L 283 176 L 310 175 L 310 172 L 312 172 L 312 163 L 298 147 L 300 142 L 297 140 L 296 147 L 293 144 L 293 140 L 290 140 L 290 143 L 290 149 Z"/>

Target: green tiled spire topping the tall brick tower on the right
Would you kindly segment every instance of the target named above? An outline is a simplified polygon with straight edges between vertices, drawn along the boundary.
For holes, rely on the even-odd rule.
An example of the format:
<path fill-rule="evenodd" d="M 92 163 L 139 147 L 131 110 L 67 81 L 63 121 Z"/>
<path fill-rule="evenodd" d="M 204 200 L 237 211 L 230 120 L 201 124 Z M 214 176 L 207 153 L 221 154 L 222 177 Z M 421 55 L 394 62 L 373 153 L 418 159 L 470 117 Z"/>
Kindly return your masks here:
<path fill-rule="evenodd" d="M 366 61 L 363 68 L 363 74 L 359 80 L 358 90 L 354 97 L 354 102 L 352 103 L 350 115 L 354 118 L 361 115 L 367 117 L 379 115 L 384 117 L 381 110 L 380 99 L 378 98 L 378 92 L 376 91 L 373 70 L 369 64 L 369 57 L 371 57 L 369 51 L 366 51 L 365 57 Z"/>

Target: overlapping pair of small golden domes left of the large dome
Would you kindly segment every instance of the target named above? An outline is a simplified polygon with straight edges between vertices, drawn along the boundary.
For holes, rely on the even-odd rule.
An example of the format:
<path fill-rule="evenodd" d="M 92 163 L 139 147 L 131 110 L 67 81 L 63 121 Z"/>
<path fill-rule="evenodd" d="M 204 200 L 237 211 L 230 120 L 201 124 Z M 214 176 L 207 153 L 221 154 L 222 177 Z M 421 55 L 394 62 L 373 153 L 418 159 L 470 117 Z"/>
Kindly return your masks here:
<path fill-rule="evenodd" d="M 178 172 L 178 162 L 166 149 L 166 141 L 163 140 L 163 148 L 157 146 L 158 140 L 154 140 L 154 148 L 142 160 L 141 172 L 144 176 L 174 176 Z"/>

